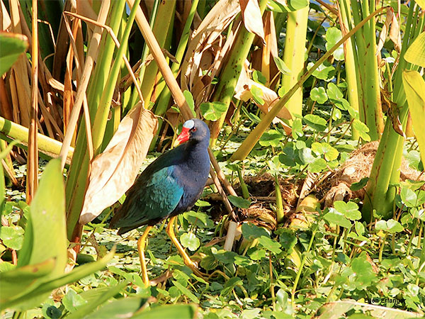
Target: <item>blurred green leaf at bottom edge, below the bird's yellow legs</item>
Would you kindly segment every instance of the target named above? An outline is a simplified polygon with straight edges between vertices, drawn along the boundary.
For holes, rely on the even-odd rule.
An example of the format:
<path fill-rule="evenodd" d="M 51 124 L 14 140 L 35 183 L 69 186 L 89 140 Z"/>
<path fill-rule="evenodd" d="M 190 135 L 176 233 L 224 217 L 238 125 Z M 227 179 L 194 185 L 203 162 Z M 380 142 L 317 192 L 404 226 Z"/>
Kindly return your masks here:
<path fill-rule="evenodd" d="M 159 319 L 159 318 L 179 318 L 194 319 L 197 318 L 198 311 L 194 305 L 164 305 L 152 307 L 133 315 L 132 319 Z"/>

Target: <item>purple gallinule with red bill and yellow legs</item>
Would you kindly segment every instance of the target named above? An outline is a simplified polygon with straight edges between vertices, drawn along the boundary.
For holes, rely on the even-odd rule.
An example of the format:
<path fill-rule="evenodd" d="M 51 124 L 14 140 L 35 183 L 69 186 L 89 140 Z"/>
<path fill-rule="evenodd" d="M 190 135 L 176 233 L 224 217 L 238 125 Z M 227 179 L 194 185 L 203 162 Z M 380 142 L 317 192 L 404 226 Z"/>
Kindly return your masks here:
<path fill-rule="evenodd" d="M 198 201 L 208 179 L 208 125 L 196 118 L 186 121 L 177 141 L 180 143 L 178 147 L 159 156 L 137 177 L 110 224 L 111 228 L 120 228 L 118 235 L 147 225 L 145 233 L 137 241 L 145 284 L 149 284 L 145 262 L 146 238 L 152 226 L 165 218 L 170 218 L 166 233 L 185 264 L 200 274 L 174 234 L 174 220 Z"/>

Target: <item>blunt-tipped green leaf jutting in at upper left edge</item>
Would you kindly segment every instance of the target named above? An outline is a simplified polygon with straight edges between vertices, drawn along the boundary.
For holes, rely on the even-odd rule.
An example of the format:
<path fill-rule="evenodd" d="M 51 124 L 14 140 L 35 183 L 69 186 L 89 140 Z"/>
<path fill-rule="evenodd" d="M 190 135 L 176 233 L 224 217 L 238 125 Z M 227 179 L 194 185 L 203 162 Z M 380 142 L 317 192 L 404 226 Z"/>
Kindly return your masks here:
<path fill-rule="evenodd" d="M 0 33 L 0 77 L 28 47 L 28 38 L 17 33 Z"/>

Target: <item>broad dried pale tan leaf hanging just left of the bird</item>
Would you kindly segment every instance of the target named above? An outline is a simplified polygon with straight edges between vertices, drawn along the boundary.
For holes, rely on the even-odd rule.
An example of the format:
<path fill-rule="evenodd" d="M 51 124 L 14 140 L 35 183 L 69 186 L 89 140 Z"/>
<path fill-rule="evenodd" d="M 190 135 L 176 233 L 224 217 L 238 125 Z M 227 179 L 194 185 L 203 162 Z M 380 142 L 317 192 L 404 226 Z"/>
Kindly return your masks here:
<path fill-rule="evenodd" d="M 157 128 L 157 118 L 142 103 L 123 118 L 111 142 L 91 163 L 79 223 L 89 223 L 130 189 Z"/>

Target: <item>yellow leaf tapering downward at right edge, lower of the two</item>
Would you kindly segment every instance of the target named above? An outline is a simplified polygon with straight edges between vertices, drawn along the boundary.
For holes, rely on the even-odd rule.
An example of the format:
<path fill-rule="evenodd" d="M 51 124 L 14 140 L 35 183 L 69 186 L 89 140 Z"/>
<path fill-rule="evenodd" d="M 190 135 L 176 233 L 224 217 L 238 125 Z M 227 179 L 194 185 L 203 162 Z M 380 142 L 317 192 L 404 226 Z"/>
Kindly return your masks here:
<path fill-rule="evenodd" d="M 403 85 L 412 116 L 414 133 L 421 152 L 422 163 L 425 163 L 425 81 L 417 71 L 404 71 Z"/>

